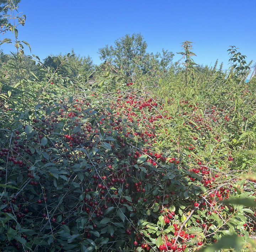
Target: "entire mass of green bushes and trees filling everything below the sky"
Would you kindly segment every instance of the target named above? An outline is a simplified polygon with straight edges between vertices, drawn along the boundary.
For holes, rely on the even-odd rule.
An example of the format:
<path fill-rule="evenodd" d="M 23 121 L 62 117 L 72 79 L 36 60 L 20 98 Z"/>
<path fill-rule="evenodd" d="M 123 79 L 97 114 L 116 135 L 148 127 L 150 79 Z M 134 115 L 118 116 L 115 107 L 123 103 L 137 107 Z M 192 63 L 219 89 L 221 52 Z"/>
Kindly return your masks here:
<path fill-rule="evenodd" d="M 140 34 L 100 66 L 1 43 L 0 251 L 254 251 L 255 78 L 237 48 L 223 72 Z"/>

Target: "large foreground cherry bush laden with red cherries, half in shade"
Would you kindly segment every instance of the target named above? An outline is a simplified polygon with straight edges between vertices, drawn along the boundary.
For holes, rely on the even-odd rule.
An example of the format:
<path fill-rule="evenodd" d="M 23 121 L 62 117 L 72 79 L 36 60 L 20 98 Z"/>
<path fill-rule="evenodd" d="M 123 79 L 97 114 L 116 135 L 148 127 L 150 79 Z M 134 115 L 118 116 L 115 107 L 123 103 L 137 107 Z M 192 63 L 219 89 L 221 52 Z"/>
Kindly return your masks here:
<path fill-rule="evenodd" d="M 203 115 L 120 81 L 116 95 L 52 102 L 47 89 L 59 85 L 34 110 L 2 108 L 2 251 L 193 251 L 255 232 L 252 209 L 225 203 L 253 201 L 255 180 L 226 169 L 217 108 Z"/>

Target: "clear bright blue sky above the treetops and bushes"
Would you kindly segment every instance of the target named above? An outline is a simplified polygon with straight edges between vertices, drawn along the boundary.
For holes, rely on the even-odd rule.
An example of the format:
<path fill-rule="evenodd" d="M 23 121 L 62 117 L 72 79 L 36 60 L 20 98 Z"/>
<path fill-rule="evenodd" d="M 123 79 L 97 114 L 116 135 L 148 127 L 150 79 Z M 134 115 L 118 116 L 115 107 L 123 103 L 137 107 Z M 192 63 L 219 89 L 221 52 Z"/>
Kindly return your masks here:
<path fill-rule="evenodd" d="M 256 61 L 255 0 L 21 0 L 19 10 L 27 16 L 20 39 L 41 59 L 74 48 L 98 64 L 98 48 L 142 33 L 149 52 L 176 53 L 190 40 L 199 64 L 228 67 L 229 45 Z"/>

